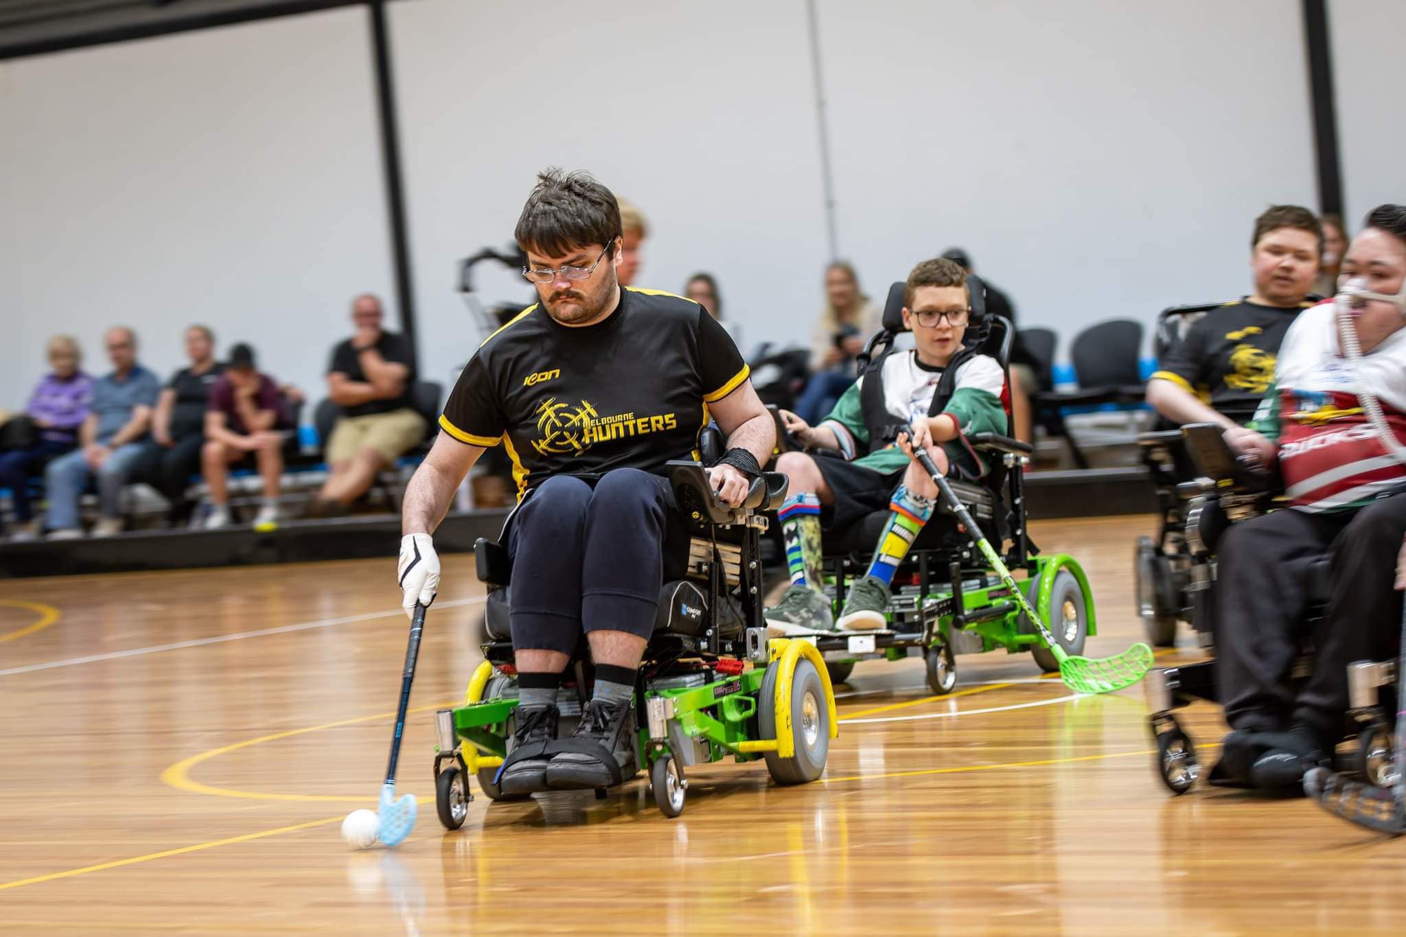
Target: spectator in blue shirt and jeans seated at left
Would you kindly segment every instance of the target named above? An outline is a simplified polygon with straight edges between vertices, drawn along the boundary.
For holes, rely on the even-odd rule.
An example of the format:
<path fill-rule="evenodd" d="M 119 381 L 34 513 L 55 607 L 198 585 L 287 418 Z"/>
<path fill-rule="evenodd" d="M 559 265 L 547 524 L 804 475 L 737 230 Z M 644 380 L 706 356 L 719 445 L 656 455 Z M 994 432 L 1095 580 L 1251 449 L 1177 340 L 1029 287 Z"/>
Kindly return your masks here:
<path fill-rule="evenodd" d="M 93 385 L 90 413 L 79 428 L 80 448 L 49 462 L 44 472 L 52 539 L 83 535 L 79 499 L 94 476 L 100 517 L 93 535 L 110 537 L 122 530 L 122 486 L 136 468 L 160 392 L 156 375 L 136 364 L 136 333 L 114 326 L 105 343 L 112 372 Z"/>

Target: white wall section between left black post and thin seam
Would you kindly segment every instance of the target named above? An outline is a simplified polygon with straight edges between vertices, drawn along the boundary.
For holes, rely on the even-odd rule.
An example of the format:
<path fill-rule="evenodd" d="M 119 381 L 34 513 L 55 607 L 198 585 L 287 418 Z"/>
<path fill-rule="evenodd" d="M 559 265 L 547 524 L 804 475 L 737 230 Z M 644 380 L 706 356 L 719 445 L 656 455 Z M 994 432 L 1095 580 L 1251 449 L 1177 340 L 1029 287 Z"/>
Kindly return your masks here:
<path fill-rule="evenodd" d="M 456 263 L 512 240 L 537 170 L 589 169 L 652 225 L 637 285 L 711 270 L 744 341 L 808 329 L 825 233 L 804 7 L 389 7 L 426 375 L 481 333 Z M 610 18 L 614 15 L 614 18 Z M 530 299 L 506 273 L 488 299 Z"/>

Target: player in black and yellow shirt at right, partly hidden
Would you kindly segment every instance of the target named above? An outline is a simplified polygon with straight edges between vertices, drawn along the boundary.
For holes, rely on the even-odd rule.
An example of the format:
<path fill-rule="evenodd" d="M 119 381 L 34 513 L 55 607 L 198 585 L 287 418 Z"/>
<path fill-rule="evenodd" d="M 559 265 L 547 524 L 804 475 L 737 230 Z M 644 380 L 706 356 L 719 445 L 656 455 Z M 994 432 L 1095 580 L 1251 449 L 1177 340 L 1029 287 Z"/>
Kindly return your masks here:
<path fill-rule="evenodd" d="M 1323 229 L 1298 205 L 1274 205 L 1250 239 L 1254 292 L 1191 325 L 1147 382 L 1147 403 L 1182 426 L 1241 426 L 1274 379 L 1274 358 L 1299 312 L 1313 305 Z"/>

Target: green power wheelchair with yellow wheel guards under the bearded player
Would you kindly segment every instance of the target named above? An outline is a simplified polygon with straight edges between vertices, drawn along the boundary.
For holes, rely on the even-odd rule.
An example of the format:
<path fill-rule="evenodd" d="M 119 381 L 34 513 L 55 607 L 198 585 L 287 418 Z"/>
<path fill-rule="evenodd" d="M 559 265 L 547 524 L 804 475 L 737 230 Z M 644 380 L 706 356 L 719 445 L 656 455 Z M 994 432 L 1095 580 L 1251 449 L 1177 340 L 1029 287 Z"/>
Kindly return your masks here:
<path fill-rule="evenodd" d="M 689 579 L 706 584 L 706 614 L 693 634 L 657 631 L 650 639 L 636 687 L 636 745 L 655 802 L 666 816 L 678 816 L 688 791 L 685 767 L 762 759 L 778 784 L 803 784 L 824 771 L 838 725 L 821 653 L 801 641 L 768 641 L 762 621 L 759 538 L 766 518 L 758 509 L 785 497 L 785 478 L 758 479 L 742 507 L 728 509 L 713 502 L 702 465 L 671 462 L 669 475 L 692 521 Z M 720 544 L 724 531 L 734 544 Z M 481 579 L 492 584 L 482 573 L 481 565 Z M 741 629 L 724 634 L 721 610 L 737 607 Z M 470 775 L 489 799 L 508 799 L 496 774 L 517 708 L 516 671 L 510 643 L 489 641 L 484 653 L 464 705 L 436 712 L 436 805 L 450 830 L 467 816 Z M 579 660 L 575 673 L 581 693 L 586 680 Z M 596 789 L 598 798 L 605 795 L 605 788 Z"/>

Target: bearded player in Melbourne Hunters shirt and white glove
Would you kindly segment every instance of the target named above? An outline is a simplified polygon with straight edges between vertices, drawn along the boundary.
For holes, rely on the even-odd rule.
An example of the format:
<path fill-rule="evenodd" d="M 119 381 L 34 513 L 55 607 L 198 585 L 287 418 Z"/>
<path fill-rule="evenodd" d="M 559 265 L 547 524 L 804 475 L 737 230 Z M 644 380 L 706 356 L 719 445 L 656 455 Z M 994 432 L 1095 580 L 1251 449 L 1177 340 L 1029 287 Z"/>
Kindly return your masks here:
<path fill-rule="evenodd" d="M 664 464 L 693 458 L 716 420 L 730 448 L 709 478 L 738 504 L 776 433 L 703 306 L 621 289 L 610 190 L 585 173 L 543 173 L 516 237 L 541 302 L 484 341 L 450 395 L 405 493 L 398 576 L 406 612 L 434 598 L 430 532 L 475 459 L 502 444 L 519 492 L 506 537 L 520 702 L 498 782 L 503 794 L 609 787 L 636 773 L 640 656 L 665 572 L 682 575 L 688 562 Z M 595 695 L 575 738 L 558 742 L 557 688 L 582 631 Z"/>

